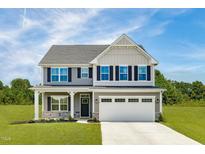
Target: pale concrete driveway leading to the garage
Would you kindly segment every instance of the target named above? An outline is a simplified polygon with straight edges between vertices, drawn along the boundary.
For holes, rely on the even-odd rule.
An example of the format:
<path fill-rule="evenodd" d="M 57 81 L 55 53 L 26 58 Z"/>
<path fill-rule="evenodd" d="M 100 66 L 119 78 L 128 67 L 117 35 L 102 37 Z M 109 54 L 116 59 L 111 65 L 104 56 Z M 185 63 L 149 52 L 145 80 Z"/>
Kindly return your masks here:
<path fill-rule="evenodd" d="M 200 144 L 155 122 L 101 122 L 102 143 L 119 144 Z"/>

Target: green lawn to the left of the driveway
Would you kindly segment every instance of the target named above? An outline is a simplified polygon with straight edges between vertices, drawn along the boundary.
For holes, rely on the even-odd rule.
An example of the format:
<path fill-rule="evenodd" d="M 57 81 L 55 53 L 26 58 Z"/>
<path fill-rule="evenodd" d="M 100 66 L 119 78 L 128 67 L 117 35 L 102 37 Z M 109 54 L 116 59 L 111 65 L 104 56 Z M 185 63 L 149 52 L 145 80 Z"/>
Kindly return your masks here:
<path fill-rule="evenodd" d="M 33 110 L 33 105 L 0 105 L 0 144 L 102 144 L 100 124 L 9 124 L 33 119 Z"/>

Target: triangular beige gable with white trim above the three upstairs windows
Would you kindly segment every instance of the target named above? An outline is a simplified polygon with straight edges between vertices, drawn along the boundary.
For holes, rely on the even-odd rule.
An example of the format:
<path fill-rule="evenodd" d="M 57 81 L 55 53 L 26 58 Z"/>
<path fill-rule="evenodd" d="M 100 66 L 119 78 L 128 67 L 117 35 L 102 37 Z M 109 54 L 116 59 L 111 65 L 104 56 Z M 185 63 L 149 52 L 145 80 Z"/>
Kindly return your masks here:
<path fill-rule="evenodd" d="M 90 63 L 156 65 L 158 62 L 131 38 L 123 34 Z"/>

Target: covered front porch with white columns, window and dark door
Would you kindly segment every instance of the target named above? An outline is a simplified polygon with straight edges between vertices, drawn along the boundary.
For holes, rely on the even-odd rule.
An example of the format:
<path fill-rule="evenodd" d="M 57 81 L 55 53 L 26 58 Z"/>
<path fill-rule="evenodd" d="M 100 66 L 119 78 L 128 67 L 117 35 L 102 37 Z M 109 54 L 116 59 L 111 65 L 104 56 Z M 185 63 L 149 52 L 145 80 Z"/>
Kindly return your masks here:
<path fill-rule="evenodd" d="M 35 88 L 34 120 L 39 118 L 75 118 L 88 119 L 93 117 L 93 92 L 88 88 L 78 90 L 61 87 Z M 39 117 L 39 95 L 42 94 L 42 117 Z"/>

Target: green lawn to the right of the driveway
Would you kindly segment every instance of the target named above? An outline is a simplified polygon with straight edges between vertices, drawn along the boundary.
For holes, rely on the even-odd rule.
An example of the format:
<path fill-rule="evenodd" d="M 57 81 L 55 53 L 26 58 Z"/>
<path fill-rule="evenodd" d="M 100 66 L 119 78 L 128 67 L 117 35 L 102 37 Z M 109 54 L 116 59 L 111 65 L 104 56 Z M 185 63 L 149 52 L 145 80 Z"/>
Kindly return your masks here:
<path fill-rule="evenodd" d="M 205 144 L 205 107 L 164 106 L 166 126 Z"/>

